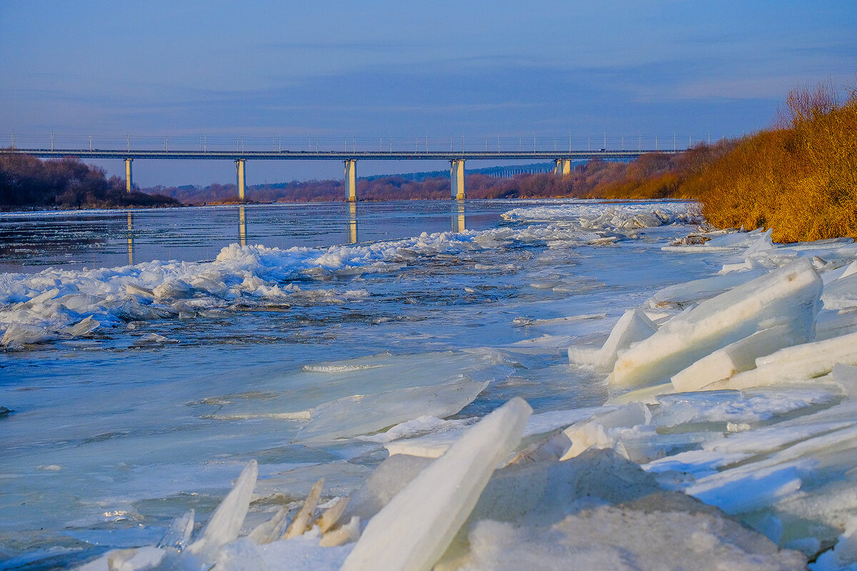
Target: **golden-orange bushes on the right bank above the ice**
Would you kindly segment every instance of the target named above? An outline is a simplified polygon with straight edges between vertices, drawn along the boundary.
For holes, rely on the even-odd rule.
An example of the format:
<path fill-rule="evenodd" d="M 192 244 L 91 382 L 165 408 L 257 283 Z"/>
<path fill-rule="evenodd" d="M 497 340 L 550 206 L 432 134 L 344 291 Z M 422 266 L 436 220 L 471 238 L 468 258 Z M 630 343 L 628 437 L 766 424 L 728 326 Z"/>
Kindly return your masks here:
<path fill-rule="evenodd" d="M 717 226 L 774 229 L 776 241 L 857 238 L 857 92 L 792 92 L 776 126 L 745 137 L 680 189 Z"/>

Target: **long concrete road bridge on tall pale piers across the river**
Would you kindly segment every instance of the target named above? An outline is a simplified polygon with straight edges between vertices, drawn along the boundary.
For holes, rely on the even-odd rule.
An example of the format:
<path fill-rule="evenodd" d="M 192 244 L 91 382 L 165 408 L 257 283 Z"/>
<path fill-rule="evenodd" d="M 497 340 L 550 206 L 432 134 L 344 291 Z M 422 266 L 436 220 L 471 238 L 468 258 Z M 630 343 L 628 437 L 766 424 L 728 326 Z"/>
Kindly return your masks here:
<path fill-rule="evenodd" d="M 229 160 L 236 164 L 236 184 L 238 199 L 244 199 L 247 187 L 247 161 L 249 160 L 339 160 L 345 164 L 345 193 L 349 202 L 357 201 L 357 161 L 358 160 L 440 160 L 450 164 L 452 180 L 452 198 L 463 200 L 464 162 L 468 160 L 538 160 L 554 161 L 554 174 L 570 175 L 572 163 L 591 158 L 604 160 L 632 160 L 650 152 L 676 154 L 680 150 L 639 149 L 637 151 L 167 151 L 136 149 L 23 149 L 10 147 L 4 153 L 20 153 L 39 158 L 74 157 L 81 159 L 118 158 L 125 161 L 125 186 L 128 192 L 134 187 L 132 163 L 135 159 L 185 159 L 185 160 Z"/>

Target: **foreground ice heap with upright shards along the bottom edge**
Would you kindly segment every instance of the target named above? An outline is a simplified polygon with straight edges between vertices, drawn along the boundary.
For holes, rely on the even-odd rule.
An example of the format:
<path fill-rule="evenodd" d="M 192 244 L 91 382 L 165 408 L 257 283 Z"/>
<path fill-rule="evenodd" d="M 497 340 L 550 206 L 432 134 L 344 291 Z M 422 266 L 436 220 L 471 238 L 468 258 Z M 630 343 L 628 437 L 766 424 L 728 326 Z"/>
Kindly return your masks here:
<path fill-rule="evenodd" d="M 617 408 L 589 422 L 650 423 L 644 409 Z M 191 512 L 159 544 L 112 550 L 81 569 L 680 569 L 688 558 L 699 569 L 805 568 L 799 551 L 665 490 L 613 449 L 563 460 L 579 429 L 523 446 L 530 412 L 513 399 L 436 460 L 393 455 L 325 509 L 320 480 L 297 512 L 279 509 L 250 528 L 243 524 L 252 461 L 198 538 Z"/>

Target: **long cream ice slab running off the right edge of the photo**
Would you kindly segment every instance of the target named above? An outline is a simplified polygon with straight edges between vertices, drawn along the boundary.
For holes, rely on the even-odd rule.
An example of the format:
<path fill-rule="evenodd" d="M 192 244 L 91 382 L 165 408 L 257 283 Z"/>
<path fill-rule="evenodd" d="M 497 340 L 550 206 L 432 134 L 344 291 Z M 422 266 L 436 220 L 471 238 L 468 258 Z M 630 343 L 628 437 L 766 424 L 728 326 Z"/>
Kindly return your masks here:
<path fill-rule="evenodd" d="M 857 333 L 794 345 L 759 357 L 756 368 L 707 385 L 710 389 L 746 389 L 821 377 L 837 363 L 857 365 Z"/>

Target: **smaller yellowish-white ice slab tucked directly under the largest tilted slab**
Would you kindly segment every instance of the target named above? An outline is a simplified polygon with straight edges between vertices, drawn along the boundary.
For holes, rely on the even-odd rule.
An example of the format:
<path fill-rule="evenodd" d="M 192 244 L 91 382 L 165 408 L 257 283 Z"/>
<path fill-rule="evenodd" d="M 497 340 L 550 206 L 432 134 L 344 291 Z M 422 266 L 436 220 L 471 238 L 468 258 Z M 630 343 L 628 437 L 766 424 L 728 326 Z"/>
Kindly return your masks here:
<path fill-rule="evenodd" d="M 753 333 L 739 341 L 717 349 L 691 366 L 677 372 L 670 382 L 676 391 L 699 390 L 706 384 L 729 378 L 736 372 L 749 371 L 756 366 L 756 359 L 778 349 L 806 341 L 804 336 L 794 335 L 788 325 L 777 325 Z"/>

